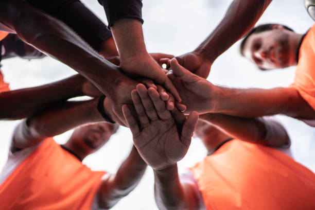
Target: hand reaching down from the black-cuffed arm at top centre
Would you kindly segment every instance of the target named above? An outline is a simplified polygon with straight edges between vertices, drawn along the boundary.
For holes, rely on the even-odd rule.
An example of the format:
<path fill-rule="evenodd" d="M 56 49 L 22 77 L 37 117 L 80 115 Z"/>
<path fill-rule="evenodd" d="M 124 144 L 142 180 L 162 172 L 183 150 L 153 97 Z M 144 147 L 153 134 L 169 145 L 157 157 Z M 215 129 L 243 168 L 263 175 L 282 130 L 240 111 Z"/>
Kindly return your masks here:
<path fill-rule="evenodd" d="M 181 101 L 178 91 L 170 79 L 149 54 L 137 54 L 128 59 L 120 60 L 120 67 L 127 75 L 132 77 L 146 77 L 152 79 L 156 84 L 161 84 L 176 100 Z"/>

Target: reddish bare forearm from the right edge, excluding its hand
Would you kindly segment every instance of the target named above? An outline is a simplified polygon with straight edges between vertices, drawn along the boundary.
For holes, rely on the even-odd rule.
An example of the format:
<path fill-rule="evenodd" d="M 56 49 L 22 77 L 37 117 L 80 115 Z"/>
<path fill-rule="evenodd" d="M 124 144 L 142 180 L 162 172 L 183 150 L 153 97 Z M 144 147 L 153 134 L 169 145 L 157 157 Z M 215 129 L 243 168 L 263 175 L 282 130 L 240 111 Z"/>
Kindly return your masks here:
<path fill-rule="evenodd" d="M 293 88 L 233 89 L 214 86 L 208 112 L 242 117 L 284 114 L 314 119 L 315 111 Z"/>

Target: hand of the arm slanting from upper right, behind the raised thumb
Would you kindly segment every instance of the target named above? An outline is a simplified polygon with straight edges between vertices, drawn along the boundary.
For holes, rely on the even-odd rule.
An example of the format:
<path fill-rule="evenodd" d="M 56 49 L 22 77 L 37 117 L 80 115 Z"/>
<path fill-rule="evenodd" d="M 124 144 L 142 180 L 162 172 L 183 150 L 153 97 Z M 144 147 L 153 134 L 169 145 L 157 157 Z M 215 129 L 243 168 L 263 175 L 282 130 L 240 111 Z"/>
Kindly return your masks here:
<path fill-rule="evenodd" d="M 207 78 L 210 73 L 212 63 L 205 59 L 201 54 L 190 52 L 177 56 L 176 59 L 181 66 L 199 77 Z M 160 62 L 166 63 L 167 66 L 170 65 L 169 58 L 162 58 L 160 59 Z"/>

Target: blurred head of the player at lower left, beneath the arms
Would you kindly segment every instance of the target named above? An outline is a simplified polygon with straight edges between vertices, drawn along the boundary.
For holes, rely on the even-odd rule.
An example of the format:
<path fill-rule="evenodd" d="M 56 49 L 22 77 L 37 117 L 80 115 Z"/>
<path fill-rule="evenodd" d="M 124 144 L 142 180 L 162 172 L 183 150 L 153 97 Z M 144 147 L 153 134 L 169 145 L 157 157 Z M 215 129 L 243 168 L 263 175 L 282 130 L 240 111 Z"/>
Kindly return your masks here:
<path fill-rule="evenodd" d="M 79 151 L 80 156 L 87 156 L 96 152 L 110 137 L 116 133 L 119 126 L 109 122 L 91 123 L 76 128 L 66 145 L 74 148 L 71 150 Z"/>

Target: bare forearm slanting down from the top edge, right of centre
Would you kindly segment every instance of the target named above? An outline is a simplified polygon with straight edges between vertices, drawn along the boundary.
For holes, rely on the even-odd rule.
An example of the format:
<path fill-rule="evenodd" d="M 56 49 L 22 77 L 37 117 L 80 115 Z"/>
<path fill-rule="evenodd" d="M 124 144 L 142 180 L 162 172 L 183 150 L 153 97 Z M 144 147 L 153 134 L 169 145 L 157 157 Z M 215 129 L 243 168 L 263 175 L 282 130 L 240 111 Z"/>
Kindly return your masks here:
<path fill-rule="evenodd" d="M 202 42 L 196 53 L 209 62 L 219 57 L 226 49 L 242 38 L 258 21 L 272 0 L 234 0 L 223 20 Z"/>

